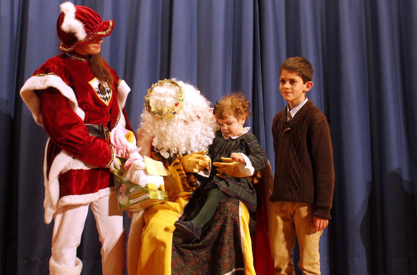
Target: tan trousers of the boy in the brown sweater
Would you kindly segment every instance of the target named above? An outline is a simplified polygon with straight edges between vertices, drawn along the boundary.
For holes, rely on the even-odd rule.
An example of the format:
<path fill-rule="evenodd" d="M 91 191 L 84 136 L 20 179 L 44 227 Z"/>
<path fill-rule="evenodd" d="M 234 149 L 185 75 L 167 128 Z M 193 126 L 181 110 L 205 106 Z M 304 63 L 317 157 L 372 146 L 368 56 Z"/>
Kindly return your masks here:
<path fill-rule="evenodd" d="M 300 248 L 298 266 L 304 274 L 320 274 L 319 240 L 322 231 L 314 232 L 313 207 L 304 202 L 274 202 L 268 231 L 275 274 L 295 275 L 291 251 L 295 235 Z"/>

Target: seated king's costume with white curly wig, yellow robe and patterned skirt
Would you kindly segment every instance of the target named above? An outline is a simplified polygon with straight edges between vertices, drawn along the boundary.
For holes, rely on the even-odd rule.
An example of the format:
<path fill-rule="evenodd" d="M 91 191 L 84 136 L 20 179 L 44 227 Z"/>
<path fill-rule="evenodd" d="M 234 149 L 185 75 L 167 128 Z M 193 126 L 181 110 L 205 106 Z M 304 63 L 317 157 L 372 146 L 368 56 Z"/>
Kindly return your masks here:
<path fill-rule="evenodd" d="M 173 244 L 174 223 L 179 218 L 184 219 L 189 214 L 188 210 L 193 209 L 191 204 L 195 202 L 190 198 L 197 187 L 197 176 L 195 172 L 188 171 L 185 159 L 187 156 L 199 154 L 187 154 L 186 151 L 201 151 L 208 148 L 218 126 L 210 109 L 210 103 L 195 87 L 182 81 L 161 82 L 169 85 L 155 90 L 151 87 L 148 95 L 151 93 L 156 96 L 149 96 L 146 105 L 162 106 L 161 109 L 165 112 L 169 107 L 176 106 L 176 102 L 181 98 L 178 94 L 182 89 L 185 93 L 183 106 L 175 109 L 176 114 L 168 119 L 161 119 L 157 111 L 152 114 L 148 108 L 144 109 L 141 129 L 137 132 L 137 145 L 142 148 L 143 156 L 152 156 L 161 160 L 171 173 L 164 178 L 169 200 L 155 204 L 142 212 L 133 212 L 128 239 L 128 274 L 167 275 L 208 272 L 255 274 L 249 234 L 249 211 L 238 199 L 227 198 L 219 204 L 219 211 L 203 229 L 203 235 L 198 242 Z M 188 121 L 185 120 L 187 118 Z M 165 126 L 171 133 L 166 138 L 164 134 L 155 134 L 157 131 L 153 131 L 153 129 L 161 129 L 161 124 L 170 126 Z M 178 125 L 193 129 L 189 136 L 183 137 L 183 144 L 187 144 L 187 148 L 185 152 L 181 152 L 183 156 L 178 154 L 167 156 L 164 150 L 168 151 L 172 147 L 167 146 L 165 141 L 173 138 L 171 135 L 178 131 Z M 162 129 L 166 130 L 166 128 Z M 193 141 L 194 136 L 198 136 L 198 141 L 201 143 L 193 147 L 192 144 L 196 143 Z M 155 151 L 151 150 L 151 147 Z M 196 163 L 200 163 L 199 160 L 201 159 L 196 159 Z M 187 209 L 184 209 L 185 207 Z"/>

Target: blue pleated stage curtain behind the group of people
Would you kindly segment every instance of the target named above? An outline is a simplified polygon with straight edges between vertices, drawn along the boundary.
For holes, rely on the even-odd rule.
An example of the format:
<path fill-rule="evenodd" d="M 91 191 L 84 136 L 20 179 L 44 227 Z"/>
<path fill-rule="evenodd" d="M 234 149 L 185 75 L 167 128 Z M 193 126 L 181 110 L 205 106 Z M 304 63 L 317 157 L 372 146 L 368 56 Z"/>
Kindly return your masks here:
<path fill-rule="evenodd" d="M 47 135 L 19 90 L 59 54 L 61 2 L 0 0 L 0 274 L 48 274 Z M 158 79 L 187 81 L 213 103 L 240 90 L 252 103 L 247 125 L 273 167 L 272 118 L 286 104 L 279 67 L 290 56 L 309 59 L 314 87 L 307 97 L 332 127 L 336 169 L 322 274 L 417 274 L 417 1 L 73 2 L 115 20 L 102 55 L 132 88 L 126 107 L 134 129 Z M 91 213 L 78 256 L 83 274 L 101 274 Z"/>

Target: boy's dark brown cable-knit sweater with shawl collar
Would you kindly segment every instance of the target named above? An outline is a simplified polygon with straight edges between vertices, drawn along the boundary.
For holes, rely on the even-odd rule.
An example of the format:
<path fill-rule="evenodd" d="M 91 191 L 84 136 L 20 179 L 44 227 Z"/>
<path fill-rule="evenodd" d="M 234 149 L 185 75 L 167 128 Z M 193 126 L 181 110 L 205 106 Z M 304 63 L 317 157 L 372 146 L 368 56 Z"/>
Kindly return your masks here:
<path fill-rule="evenodd" d="M 286 107 L 275 115 L 274 191 L 271 202 L 306 202 L 313 215 L 331 219 L 334 190 L 333 147 L 326 116 L 309 100 L 290 122 Z"/>

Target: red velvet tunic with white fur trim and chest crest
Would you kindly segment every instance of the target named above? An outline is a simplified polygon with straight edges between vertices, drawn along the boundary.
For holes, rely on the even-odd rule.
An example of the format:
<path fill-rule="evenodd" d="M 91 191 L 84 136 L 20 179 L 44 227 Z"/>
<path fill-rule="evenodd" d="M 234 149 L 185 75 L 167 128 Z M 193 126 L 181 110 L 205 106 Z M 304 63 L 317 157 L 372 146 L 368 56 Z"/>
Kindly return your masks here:
<path fill-rule="evenodd" d="M 20 91 L 50 136 L 44 161 L 47 223 L 58 207 L 93 202 L 114 185 L 109 141 L 90 136 L 85 124 L 132 130 L 124 109 L 130 88 L 111 68 L 111 87 L 99 84 L 85 58 L 65 53 L 50 58 Z"/>

